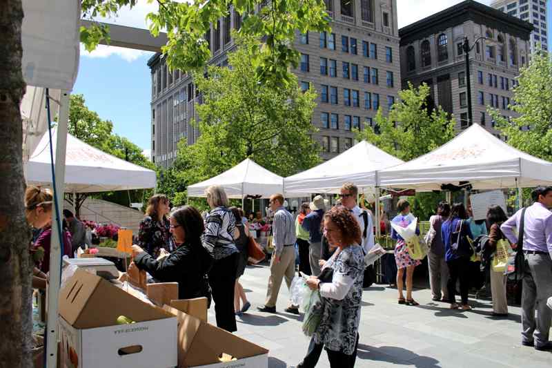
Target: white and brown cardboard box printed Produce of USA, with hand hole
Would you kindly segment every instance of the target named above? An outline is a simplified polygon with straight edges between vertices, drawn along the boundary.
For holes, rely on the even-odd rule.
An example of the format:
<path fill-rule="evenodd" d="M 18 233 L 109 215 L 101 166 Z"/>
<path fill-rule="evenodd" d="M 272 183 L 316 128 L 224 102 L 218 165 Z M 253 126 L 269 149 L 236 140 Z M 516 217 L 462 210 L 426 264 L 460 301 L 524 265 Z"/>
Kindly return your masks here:
<path fill-rule="evenodd" d="M 117 325 L 126 316 L 135 323 Z M 177 318 L 77 270 L 59 293 L 62 368 L 177 365 Z"/>

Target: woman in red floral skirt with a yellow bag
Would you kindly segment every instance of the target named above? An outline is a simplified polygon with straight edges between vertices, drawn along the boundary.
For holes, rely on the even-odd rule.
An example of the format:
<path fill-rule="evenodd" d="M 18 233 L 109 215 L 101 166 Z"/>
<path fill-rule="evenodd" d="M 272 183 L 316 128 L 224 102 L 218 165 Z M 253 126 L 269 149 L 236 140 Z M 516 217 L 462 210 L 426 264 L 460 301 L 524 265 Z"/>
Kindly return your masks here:
<path fill-rule="evenodd" d="M 397 203 L 397 210 L 400 212 L 393 218 L 391 222 L 402 227 L 408 227 L 411 222 L 415 220 L 415 217 L 410 213 L 410 204 L 407 200 L 400 200 Z M 416 234 L 420 235 L 420 229 L 416 229 Z M 414 269 L 418 264 L 421 264 L 419 260 L 411 258 L 408 253 L 408 246 L 406 242 L 401 238 L 395 229 L 391 229 L 391 238 L 397 240 L 395 245 L 395 262 L 397 263 L 397 290 L 399 291 L 399 304 L 406 305 L 420 305 L 412 298 L 412 278 L 414 275 Z M 402 289 L 404 289 L 404 270 L 406 269 L 406 299 Z"/>

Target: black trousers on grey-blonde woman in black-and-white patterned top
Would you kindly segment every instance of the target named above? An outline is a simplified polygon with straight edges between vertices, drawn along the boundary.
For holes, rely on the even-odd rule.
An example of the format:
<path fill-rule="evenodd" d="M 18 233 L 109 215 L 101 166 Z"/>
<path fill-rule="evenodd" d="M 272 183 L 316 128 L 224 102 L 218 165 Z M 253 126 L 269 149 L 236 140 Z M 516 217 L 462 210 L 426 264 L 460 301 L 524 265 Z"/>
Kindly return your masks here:
<path fill-rule="evenodd" d="M 228 332 L 237 331 L 234 311 L 234 284 L 239 253 L 215 260 L 209 271 L 209 285 L 215 302 L 217 327 Z"/>

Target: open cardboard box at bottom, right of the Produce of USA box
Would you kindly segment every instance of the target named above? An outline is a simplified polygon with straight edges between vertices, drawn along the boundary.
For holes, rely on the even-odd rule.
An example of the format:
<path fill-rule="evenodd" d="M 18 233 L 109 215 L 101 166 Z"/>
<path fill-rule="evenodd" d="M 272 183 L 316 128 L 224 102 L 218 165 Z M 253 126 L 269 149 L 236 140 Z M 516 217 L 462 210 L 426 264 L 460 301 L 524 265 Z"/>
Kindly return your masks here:
<path fill-rule="evenodd" d="M 232 333 L 164 306 L 178 319 L 179 368 L 268 368 L 268 350 Z M 221 354 L 237 358 L 220 362 Z"/>

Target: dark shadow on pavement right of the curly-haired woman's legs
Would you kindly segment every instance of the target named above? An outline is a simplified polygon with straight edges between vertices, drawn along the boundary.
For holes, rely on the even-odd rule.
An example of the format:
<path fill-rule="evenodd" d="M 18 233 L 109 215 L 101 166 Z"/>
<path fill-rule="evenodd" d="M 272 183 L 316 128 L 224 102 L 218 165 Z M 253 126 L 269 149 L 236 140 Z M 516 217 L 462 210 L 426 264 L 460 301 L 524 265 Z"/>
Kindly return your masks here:
<path fill-rule="evenodd" d="M 400 358 L 404 357 L 404 358 Z M 359 344 L 357 358 L 373 362 L 390 362 L 393 365 L 413 365 L 414 367 L 437 368 L 439 360 L 429 356 L 421 356 L 403 347 L 372 347 Z M 416 360 L 416 362 L 412 362 Z"/>

